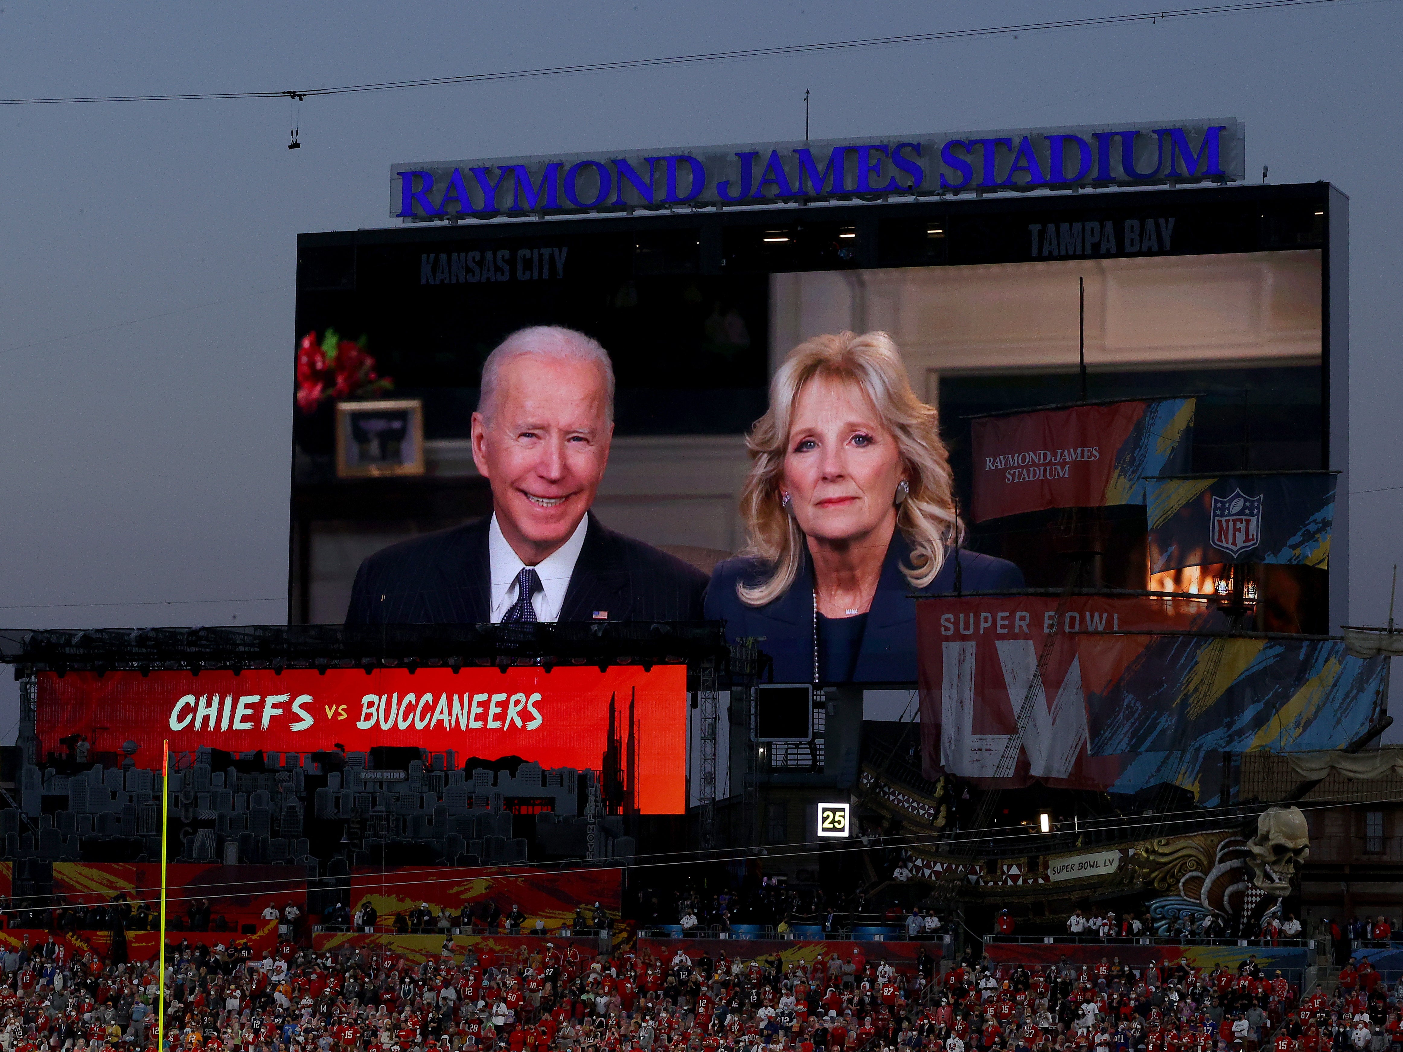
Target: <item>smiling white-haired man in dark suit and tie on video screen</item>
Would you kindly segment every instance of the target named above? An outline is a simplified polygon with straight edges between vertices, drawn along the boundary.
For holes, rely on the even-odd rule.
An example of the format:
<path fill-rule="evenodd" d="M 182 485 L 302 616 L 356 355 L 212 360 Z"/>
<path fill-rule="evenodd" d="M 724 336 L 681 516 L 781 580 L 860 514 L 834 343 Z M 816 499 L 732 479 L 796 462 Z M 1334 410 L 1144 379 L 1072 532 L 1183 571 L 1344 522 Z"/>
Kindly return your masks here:
<path fill-rule="evenodd" d="M 508 337 L 483 366 L 473 460 L 492 515 L 361 564 L 347 624 L 700 620 L 707 578 L 589 512 L 609 463 L 613 367 L 557 327 Z"/>

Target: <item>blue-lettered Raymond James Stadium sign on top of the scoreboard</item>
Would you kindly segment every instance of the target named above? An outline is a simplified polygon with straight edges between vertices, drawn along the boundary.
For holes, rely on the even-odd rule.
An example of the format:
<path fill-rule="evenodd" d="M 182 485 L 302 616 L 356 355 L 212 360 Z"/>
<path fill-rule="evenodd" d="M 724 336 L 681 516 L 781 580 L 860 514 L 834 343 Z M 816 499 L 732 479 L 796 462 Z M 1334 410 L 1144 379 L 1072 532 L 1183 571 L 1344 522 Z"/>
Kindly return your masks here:
<path fill-rule="evenodd" d="M 1233 118 L 396 164 L 390 215 L 723 208 L 1243 178 Z"/>

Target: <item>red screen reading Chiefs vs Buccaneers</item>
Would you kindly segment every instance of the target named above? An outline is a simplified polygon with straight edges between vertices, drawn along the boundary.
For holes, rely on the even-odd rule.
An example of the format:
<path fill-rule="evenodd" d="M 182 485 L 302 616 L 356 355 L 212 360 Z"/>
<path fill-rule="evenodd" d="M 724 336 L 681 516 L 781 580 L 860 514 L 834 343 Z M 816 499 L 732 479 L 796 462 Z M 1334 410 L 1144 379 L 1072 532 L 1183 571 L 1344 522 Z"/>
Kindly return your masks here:
<path fill-rule="evenodd" d="M 60 739 L 91 748 L 136 742 L 140 767 L 201 746 L 226 752 L 309 753 L 344 745 L 455 750 L 495 760 L 519 756 L 543 769 L 617 769 L 643 814 L 686 807 L 686 668 L 421 668 L 203 672 L 39 673 L 41 755 Z"/>

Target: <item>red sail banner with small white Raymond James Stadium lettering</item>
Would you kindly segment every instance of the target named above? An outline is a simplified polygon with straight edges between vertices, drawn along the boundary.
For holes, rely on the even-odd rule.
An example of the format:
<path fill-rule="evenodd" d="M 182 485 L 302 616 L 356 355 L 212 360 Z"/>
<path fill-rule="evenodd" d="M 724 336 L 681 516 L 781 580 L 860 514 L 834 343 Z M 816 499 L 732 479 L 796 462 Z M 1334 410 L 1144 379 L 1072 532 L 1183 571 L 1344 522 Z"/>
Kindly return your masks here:
<path fill-rule="evenodd" d="M 1141 504 L 1143 478 L 1188 470 L 1193 426 L 1193 398 L 975 419 L 975 522 L 1047 508 Z"/>

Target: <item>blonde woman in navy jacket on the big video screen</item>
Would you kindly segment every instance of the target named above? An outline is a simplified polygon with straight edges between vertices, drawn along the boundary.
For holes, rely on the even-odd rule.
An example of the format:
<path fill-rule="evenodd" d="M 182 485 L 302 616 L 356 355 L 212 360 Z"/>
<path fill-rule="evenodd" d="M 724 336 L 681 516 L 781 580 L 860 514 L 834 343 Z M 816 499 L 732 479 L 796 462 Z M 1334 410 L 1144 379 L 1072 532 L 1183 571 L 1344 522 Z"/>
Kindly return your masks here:
<path fill-rule="evenodd" d="M 915 592 L 1017 591 L 958 547 L 936 410 L 885 332 L 814 337 L 770 383 L 741 497 L 749 547 L 717 565 L 706 616 L 763 640 L 776 682 L 913 683 Z"/>

